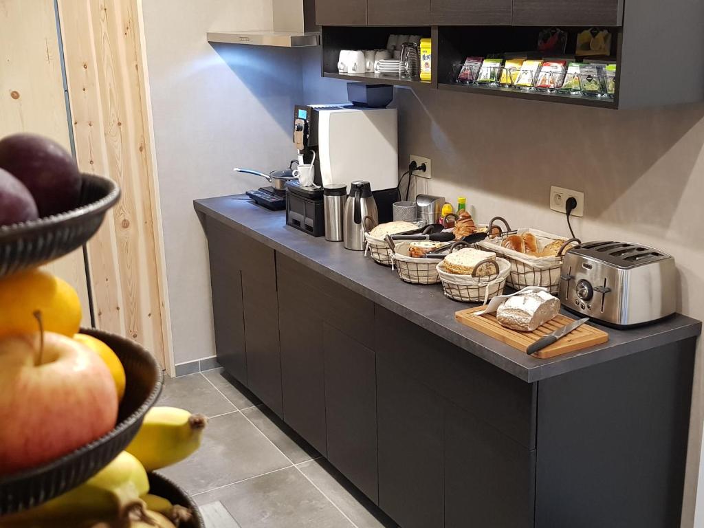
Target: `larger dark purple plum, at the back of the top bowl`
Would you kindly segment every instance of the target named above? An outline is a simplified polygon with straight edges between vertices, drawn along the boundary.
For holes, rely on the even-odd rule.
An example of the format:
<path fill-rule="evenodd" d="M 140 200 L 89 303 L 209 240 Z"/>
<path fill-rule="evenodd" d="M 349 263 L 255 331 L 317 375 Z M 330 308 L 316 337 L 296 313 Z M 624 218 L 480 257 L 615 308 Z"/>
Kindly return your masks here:
<path fill-rule="evenodd" d="M 73 156 L 60 144 L 37 134 L 12 134 L 0 140 L 0 168 L 23 182 L 39 216 L 78 206 L 81 177 Z"/>

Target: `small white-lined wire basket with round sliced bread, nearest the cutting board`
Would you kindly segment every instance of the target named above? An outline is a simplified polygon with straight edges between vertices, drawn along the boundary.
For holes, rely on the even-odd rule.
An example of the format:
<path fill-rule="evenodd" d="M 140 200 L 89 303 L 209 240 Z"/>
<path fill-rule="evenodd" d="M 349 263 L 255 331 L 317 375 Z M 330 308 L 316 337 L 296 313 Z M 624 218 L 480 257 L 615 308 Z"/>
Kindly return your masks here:
<path fill-rule="evenodd" d="M 474 275 L 457 275 L 445 271 L 443 263 L 437 265 L 437 272 L 442 282 L 446 297 L 461 303 L 486 303 L 489 299 L 503 294 L 511 270 L 511 264 L 505 258 L 485 260 L 496 264 L 496 273 L 489 277 L 474 277 Z M 481 263 L 480 263 L 481 264 Z M 476 267 L 479 268 L 479 265 Z"/>

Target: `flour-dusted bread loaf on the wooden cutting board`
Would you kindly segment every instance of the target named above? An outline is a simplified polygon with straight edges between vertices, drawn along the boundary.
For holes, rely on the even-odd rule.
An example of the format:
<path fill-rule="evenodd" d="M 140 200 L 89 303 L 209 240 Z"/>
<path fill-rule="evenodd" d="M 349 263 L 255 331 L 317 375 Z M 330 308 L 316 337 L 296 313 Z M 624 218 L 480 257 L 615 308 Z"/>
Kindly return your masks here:
<path fill-rule="evenodd" d="M 519 332 L 533 332 L 560 313 L 560 301 L 546 291 L 530 291 L 506 299 L 496 310 L 501 325 Z"/>

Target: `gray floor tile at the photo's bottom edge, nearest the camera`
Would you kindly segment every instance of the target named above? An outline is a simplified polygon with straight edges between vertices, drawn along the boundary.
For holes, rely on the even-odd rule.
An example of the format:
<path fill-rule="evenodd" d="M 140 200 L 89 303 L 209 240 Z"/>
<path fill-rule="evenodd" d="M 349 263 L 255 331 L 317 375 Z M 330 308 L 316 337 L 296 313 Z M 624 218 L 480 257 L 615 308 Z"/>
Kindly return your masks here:
<path fill-rule="evenodd" d="M 220 501 L 241 528 L 351 528 L 337 508 L 291 467 L 194 497 Z"/>

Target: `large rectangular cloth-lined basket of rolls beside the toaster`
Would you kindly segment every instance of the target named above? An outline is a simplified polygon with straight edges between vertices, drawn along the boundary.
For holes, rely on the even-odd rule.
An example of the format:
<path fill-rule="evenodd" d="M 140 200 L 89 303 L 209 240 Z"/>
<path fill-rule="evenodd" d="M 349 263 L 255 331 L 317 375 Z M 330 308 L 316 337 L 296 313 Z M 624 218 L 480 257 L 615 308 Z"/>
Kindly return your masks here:
<path fill-rule="evenodd" d="M 557 294 L 560 289 L 560 270 L 562 268 L 562 256 L 567 251 L 570 244 L 579 244 L 579 239 L 567 239 L 566 237 L 561 237 L 558 234 L 547 233 L 540 230 L 534 230 L 530 228 L 521 228 L 519 230 L 512 231 L 508 225 L 508 222 L 501 217 L 496 217 L 489 222 L 489 231 L 494 229 L 496 225 L 494 222 L 500 220 L 504 223 L 506 230 L 501 232 L 498 237 L 487 238 L 486 240 L 479 242 L 479 246 L 486 251 L 493 251 L 497 255 L 505 258 L 511 265 L 510 274 L 506 283 L 509 287 L 520 290 L 527 286 L 540 286 L 547 288 L 551 294 Z M 520 251 L 514 251 L 513 249 L 508 249 L 503 247 L 503 241 L 506 237 L 518 234 L 523 235 L 525 233 L 533 234 L 538 240 L 541 247 L 550 244 L 553 241 L 565 241 L 560 247 L 557 255 L 548 257 L 534 257 L 529 256 L 525 253 L 520 253 Z"/>

